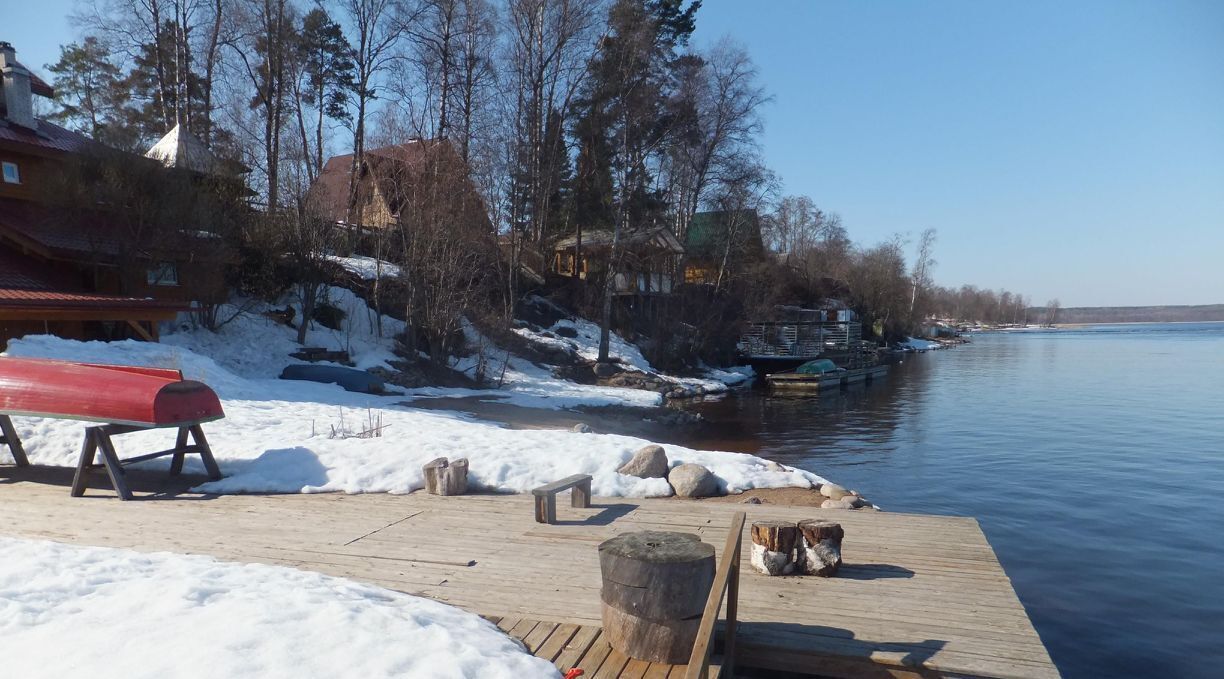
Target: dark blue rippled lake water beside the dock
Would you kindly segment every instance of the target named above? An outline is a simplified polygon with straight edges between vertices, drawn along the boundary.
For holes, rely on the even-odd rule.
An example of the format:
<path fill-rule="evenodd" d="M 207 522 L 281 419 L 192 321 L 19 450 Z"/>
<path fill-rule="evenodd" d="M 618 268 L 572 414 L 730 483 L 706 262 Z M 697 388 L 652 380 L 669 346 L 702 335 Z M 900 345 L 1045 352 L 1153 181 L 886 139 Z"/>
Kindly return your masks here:
<path fill-rule="evenodd" d="M 1064 677 L 1224 677 L 1224 323 L 983 334 L 849 391 L 692 407 L 685 443 L 976 516 Z"/>

